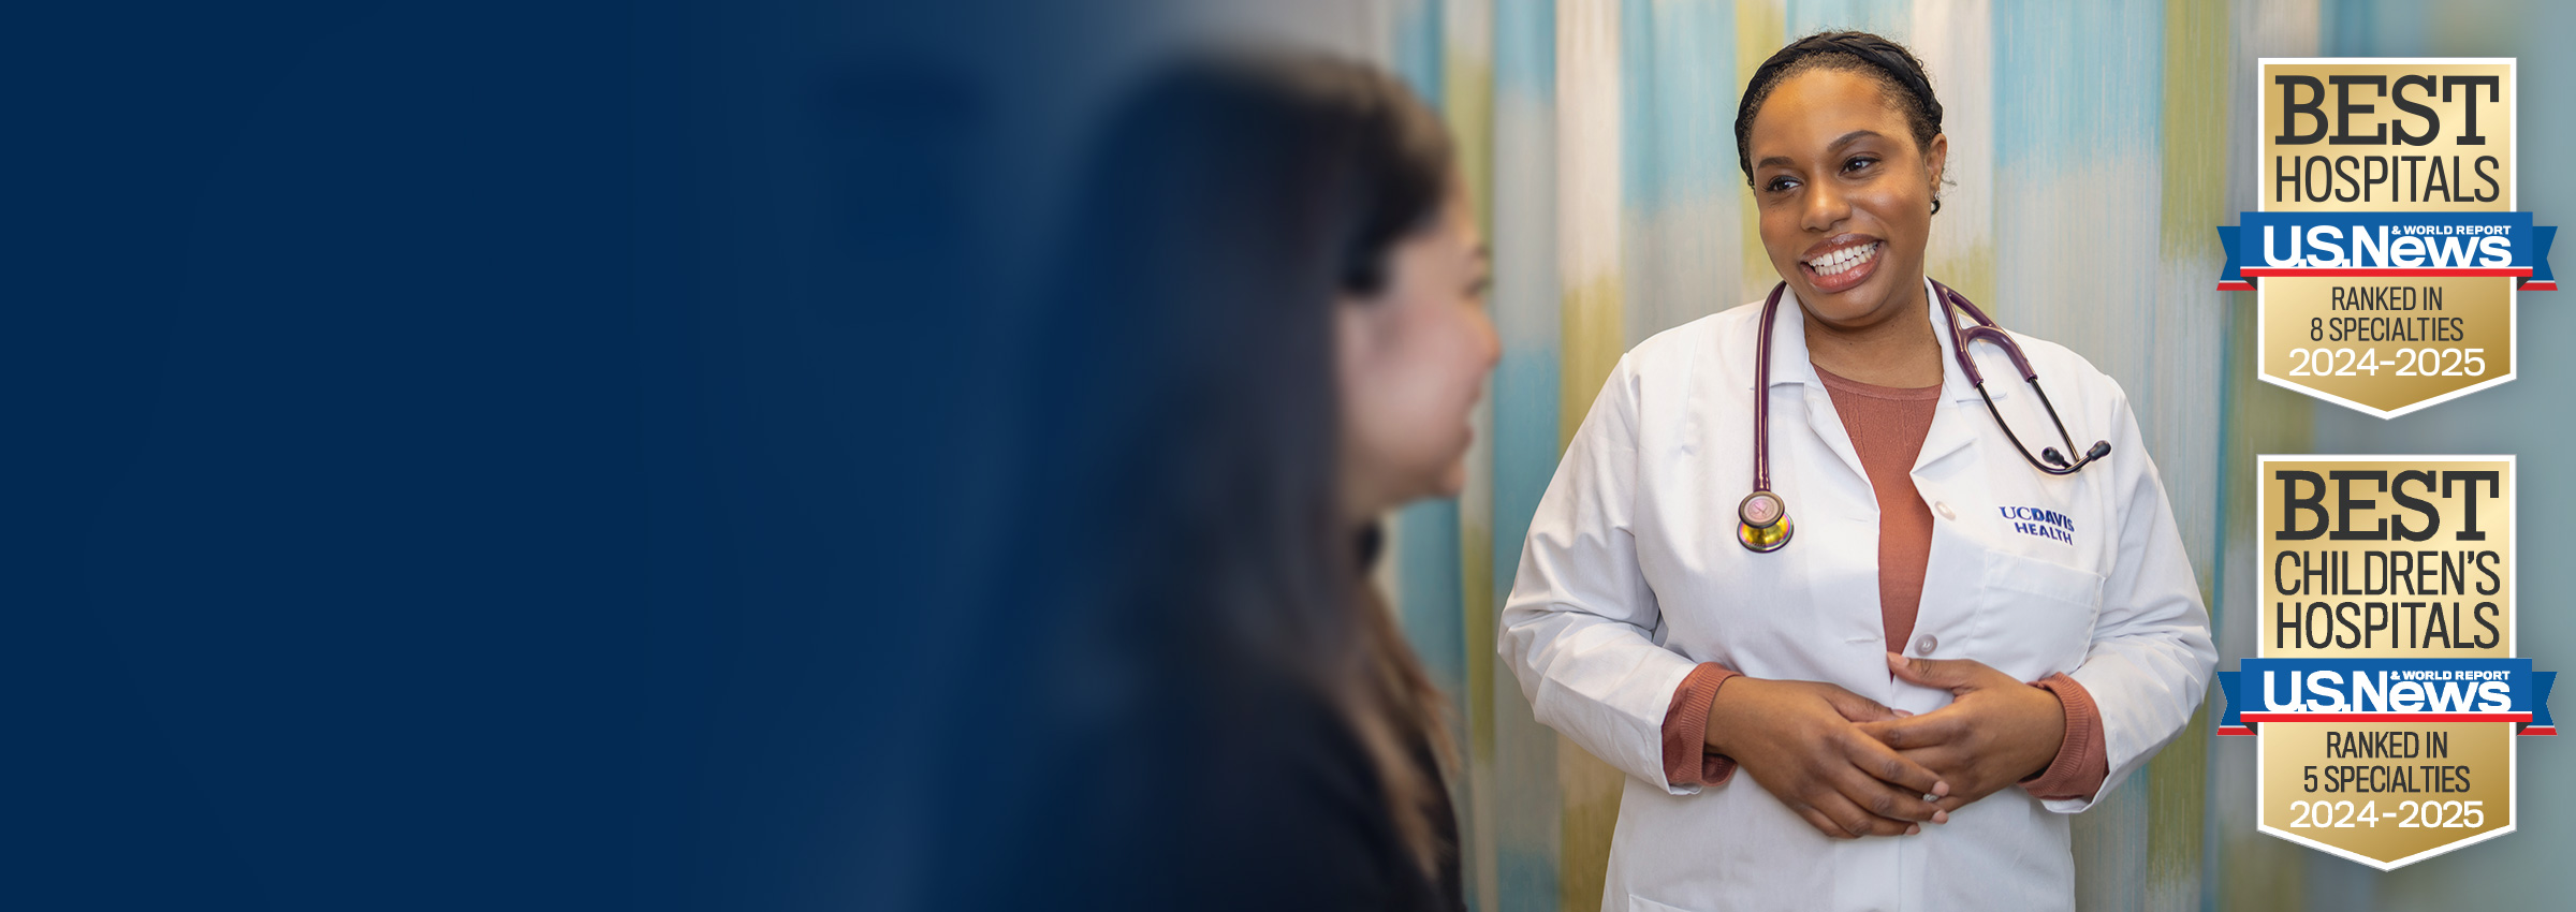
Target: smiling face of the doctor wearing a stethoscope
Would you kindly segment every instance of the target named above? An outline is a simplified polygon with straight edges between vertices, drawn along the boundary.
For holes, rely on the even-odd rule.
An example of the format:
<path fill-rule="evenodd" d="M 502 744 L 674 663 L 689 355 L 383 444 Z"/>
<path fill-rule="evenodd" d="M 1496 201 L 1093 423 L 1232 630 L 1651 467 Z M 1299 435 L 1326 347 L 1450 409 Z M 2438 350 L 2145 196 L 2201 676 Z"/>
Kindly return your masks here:
<path fill-rule="evenodd" d="M 1868 327 L 1922 299 L 1950 137 L 1919 149 L 1886 93 L 1865 72 L 1808 70 L 1772 88 L 1747 137 L 1762 247 L 1832 327 Z"/>

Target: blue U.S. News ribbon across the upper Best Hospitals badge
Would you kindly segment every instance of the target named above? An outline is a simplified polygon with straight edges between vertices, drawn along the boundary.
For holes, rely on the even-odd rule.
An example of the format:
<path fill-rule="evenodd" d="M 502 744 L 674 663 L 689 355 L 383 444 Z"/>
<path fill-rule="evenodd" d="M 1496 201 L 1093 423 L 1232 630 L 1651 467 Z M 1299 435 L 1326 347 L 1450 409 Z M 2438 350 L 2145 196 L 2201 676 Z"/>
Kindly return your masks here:
<path fill-rule="evenodd" d="M 2504 276 L 2555 291 L 2555 237 L 2530 211 L 2246 211 L 2218 227 L 2228 250 L 2218 289 L 2254 289 L 2264 276 Z"/>

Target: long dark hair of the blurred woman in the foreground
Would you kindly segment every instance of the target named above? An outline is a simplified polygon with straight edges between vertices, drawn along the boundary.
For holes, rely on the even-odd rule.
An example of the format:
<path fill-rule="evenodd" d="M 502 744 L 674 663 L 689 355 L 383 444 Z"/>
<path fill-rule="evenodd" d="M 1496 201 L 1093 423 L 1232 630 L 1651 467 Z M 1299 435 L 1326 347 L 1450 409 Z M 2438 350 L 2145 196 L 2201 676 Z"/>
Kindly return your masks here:
<path fill-rule="evenodd" d="M 1448 757 L 1448 729 L 1342 515 L 1334 307 L 1381 291 L 1396 242 L 1435 224 L 1450 137 L 1365 64 L 1198 57 L 1141 82 L 1092 167 L 1072 307 L 1033 348 L 1054 381 L 1030 443 L 1059 510 L 1033 518 L 1048 554 L 1025 577 L 1110 621 L 1054 647 L 1172 719 L 1239 724 L 1247 693 L 1309 693 L 1435 871 L 1450 848 L 1422 745 Z"/>

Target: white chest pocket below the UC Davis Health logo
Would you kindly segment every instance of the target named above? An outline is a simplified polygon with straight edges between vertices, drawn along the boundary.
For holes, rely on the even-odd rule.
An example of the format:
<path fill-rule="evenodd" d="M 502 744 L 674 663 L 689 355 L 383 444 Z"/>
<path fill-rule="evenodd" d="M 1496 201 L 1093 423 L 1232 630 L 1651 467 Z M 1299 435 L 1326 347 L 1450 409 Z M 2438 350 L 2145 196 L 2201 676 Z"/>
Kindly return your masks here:
<path fill-rule="evenodd" d="M 2058 562 L 1986 551 L 1971 660 L 2020 680 L 2040 680 L 2084 665 L 2092 626 L 2102 613 L 2102 575 Z"/>

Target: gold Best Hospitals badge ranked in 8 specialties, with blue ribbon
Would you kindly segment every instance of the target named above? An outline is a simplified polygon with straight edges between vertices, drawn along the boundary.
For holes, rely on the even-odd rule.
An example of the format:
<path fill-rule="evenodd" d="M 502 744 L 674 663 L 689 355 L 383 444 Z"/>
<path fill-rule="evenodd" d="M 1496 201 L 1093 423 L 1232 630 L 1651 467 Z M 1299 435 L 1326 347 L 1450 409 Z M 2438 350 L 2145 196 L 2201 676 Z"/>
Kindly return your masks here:
<path fill-rule="evenodd" d="M 2514 379 L 2555 227 L 2514 211 L 2514 59 L 2262 59 L 2259 211 L 2218 289 L 2257 294 L 2262 379 L 2398 417 Z"/>

